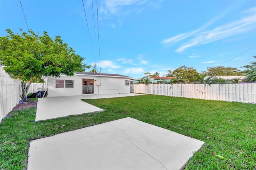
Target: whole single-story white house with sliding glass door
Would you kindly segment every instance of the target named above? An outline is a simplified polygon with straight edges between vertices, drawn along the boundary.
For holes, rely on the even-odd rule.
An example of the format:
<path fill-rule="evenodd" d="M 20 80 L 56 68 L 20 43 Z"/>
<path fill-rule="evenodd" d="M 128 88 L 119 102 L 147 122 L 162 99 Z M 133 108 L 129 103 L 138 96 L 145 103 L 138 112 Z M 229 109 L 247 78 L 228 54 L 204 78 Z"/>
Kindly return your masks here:
<path fill-rule="evenodd" d="M 48 77 L 48 97 L 130 93 L 130 77 L 119 74 L 75 72 Z"/>

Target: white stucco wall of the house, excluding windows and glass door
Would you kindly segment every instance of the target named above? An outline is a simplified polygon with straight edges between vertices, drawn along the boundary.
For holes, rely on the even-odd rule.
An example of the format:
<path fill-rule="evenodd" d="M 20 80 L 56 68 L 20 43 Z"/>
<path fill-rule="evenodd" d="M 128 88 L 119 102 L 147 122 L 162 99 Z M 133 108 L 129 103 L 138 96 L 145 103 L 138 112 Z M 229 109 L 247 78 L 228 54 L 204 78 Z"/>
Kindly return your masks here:
<path fill-rule="evenodd" d="M 56 88 L 55 80 L 58 79 L 73 80 L 73 88 Z M 92 95 L 82 94 L 82 79 L 94 79 L 93 94 L 130 93 L 130 85 L 126 85 L 126 80 L 130 80 L 129 77 L 111 77 L 98 75 L 62 75 L 60 77 L 48 77 L 48 97 Z"/>

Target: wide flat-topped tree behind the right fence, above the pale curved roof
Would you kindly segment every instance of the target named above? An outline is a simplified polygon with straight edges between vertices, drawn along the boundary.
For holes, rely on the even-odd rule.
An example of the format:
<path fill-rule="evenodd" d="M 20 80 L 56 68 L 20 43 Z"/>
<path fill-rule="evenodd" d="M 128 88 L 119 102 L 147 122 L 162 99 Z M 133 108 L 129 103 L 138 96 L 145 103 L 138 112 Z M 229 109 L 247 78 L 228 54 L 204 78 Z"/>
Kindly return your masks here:
<path fill-rule="evenodd" d="M 207 71 L 203 71 L 203 74 L 207 76 L 243 76 L 244 73 L 241 73 L 236 67 L 207 67 Z"/>

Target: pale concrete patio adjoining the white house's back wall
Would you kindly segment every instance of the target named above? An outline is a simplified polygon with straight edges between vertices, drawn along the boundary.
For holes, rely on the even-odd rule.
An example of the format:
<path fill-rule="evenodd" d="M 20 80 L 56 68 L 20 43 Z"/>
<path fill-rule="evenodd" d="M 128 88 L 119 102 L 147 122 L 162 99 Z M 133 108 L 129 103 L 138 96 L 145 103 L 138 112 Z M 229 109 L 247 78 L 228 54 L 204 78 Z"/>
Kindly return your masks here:
<path fill-rule="evenodd" d="M 101 99 L 113 97 L 129 97 L 141 95 L 136 93 L 128 94 L 108 94 L 108 95 L 80 95 L 64 97 L 39 98 L 36 109 L 36 120 L 54 119 L 66 117 L 68 115 L 79 115 L 83 113 L 102 112 L 103 109 L 90 105 L 81 99 Z"/>

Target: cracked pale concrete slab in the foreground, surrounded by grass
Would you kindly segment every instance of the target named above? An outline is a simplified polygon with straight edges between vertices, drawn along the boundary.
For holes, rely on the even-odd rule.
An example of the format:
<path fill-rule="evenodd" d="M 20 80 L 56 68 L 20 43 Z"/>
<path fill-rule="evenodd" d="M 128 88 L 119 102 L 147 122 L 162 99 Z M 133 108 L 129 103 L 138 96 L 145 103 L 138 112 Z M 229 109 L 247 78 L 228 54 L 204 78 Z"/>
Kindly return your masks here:
<path fill-rule="evenodd" d="M 28 170 L 178 170 L 203 144 L 128 117 L 33 140 Z"/>

